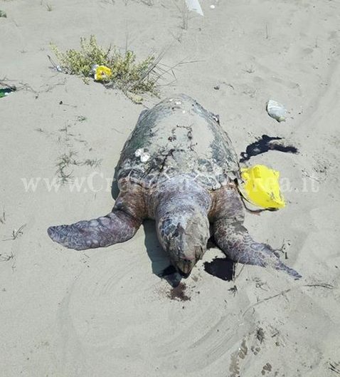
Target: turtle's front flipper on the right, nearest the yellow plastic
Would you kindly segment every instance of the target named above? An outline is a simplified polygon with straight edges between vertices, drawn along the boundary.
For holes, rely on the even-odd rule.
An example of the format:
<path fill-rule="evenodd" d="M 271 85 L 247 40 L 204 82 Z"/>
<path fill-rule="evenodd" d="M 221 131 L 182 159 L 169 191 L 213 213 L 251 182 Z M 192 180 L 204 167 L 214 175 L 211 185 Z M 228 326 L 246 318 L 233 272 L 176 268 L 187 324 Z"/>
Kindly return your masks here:
<path fill-rule="evenodd" d="M 279 254 L 272 247 L 255 242 L 242 222 L 230 222 L 230 219 L 217 220 L 213 224 L 213 234 L 218 247 L 234 262 L 272 267 L 287 272 L 294 279 L 301 277 L 298 272 L 280 261 Z"/>

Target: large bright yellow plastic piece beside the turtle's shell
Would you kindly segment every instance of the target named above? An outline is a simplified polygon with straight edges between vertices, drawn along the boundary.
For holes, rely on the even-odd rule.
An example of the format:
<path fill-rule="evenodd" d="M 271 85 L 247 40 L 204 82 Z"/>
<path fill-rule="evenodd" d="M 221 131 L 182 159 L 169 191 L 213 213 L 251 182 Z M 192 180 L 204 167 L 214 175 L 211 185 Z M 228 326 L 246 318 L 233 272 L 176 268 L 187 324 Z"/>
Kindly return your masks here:
<path fill-rule="evenodd" d="M 280 192 L 280 172 L 265 165 L 241 169 L 243 194 L 254 205 L 263 208 L 283 208 L 285 200 Z"/>

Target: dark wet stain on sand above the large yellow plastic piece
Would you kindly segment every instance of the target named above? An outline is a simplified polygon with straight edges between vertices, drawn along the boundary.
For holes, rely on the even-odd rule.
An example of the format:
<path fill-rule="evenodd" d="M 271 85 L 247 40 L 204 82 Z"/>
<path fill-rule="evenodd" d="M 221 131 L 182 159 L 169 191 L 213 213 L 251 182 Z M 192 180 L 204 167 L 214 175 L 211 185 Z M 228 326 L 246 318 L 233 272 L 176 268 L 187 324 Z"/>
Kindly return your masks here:
<path fill-rule="evenodd" d="M 268 152 L 268 150 L 278 150 L 280 152 L 295 154 L 299 153 L 299 150 L 297 150 L 296 147 L 292 145 L 285 145 L 283 138 L 262 135 L 262 138 L 257 139 L 254 143 L 248 145 L 245 152 L 241 153 L 240 162 L 248 161 L 250 157 Z"/>

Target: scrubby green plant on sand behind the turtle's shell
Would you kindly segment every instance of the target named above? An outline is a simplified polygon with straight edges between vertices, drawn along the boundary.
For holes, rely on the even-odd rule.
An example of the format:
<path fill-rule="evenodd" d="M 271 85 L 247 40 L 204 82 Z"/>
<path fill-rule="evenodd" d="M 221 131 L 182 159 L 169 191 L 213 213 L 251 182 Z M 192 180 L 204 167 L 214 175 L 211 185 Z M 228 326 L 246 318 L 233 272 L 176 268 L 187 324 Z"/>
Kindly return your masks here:
<path fill-rule="evenodd" d="M 59 70 L 70 75 L 83 76 L 88 81 L 93 76 L 93 67 L 106 66 L 112 75 L 103 80 L 105 86 L 119 88 L 125 94 L 156 93 L 156 81 L 161 77 L 156 73 L 161 56 L 149 55 L 137 61 L 133 51 L 122 53 L 115 47 L 102 48 L 95 36 L 80 38 L 80 50 L 70 49 L 62 52 L 51 43 L 51 49 L 60 63 Z"/>

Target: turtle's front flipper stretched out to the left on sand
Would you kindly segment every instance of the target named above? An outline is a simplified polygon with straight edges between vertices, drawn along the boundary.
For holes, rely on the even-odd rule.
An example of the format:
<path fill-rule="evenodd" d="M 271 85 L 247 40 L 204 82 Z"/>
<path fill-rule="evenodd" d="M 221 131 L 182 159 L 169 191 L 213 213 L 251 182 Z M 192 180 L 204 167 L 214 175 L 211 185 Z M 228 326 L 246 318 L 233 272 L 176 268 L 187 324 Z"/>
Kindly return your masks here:
<path fill-rule="evenodd" d="M 49 227 L 48 235 L 69 249 L 85 250 L 127 241 L 134 236 L 140 224 L 142 220 L 114 209 L 97 219 Z"/>

